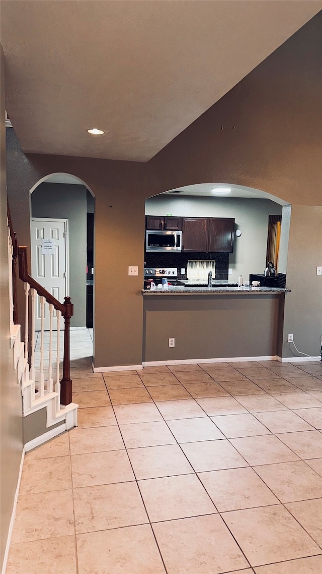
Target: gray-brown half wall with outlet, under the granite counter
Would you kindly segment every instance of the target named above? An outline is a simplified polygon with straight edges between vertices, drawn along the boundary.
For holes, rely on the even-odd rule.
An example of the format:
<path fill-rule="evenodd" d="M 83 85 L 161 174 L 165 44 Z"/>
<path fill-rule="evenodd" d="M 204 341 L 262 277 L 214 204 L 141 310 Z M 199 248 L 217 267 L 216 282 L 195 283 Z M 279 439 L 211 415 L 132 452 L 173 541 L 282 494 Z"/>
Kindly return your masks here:
<path fill-rule="evenodd" d="M 143 360 L 275 356 L 283 306 L 284 294 L 145 296 Z"/>

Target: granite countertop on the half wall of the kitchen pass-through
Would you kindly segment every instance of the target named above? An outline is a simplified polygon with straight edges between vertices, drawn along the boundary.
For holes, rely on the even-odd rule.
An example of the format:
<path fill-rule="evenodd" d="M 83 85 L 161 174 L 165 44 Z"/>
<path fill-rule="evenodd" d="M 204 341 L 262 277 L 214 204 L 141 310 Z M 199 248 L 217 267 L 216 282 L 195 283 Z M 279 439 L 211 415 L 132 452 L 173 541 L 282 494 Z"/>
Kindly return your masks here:
<path fill-rule="evenodd" d="M 256 294 L 272 294 L 272 293 L 290 293 L 290 289 L 280 289 L 278 287 L 184 287 L 174 286 L 168 289 L 142 289 L 143 295 L 216 295 L 221 294 L 237 294 L 237 295 L 256 295 Z"/>

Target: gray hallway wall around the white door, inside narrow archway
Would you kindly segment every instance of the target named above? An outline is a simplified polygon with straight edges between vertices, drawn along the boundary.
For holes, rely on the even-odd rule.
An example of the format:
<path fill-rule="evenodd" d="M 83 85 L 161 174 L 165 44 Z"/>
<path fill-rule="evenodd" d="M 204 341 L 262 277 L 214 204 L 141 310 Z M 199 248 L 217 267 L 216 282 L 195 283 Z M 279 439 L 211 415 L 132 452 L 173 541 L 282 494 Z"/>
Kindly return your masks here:
<path fill-rule="evenodd" d="M 32 193 L 32 217 L 68 219 L 71 327 L 86 326 L 86 213 L 84 185 L 44 182 Z"/>

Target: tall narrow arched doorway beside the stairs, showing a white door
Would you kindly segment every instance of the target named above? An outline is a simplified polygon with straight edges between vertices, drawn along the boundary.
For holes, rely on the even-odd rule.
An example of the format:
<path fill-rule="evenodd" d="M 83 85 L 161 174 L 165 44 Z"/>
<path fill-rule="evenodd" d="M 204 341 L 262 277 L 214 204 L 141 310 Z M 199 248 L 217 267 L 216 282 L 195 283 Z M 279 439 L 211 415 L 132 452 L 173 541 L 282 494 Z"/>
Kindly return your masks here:
<path fill-rule="evenodd" d="M 49 174 L 30 189 L 32 275 L 58 300 L 72 298 L 71 366 L 92 363 L 94 212 L 94 194 L 72 174 Z"/>

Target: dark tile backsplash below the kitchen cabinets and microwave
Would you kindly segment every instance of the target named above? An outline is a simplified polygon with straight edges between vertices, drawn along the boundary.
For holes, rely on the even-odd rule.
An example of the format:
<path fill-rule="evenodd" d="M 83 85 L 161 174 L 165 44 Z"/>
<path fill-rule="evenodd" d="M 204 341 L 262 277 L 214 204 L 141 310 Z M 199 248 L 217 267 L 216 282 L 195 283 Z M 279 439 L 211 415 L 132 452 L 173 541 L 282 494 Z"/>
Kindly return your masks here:
<path fill-rule="evenodd" d="M 187 278 L 187 265 L 191 259 L 199 261 L 216 262 L 216 279 L 228 279 L 229 254 L 228 253 L 191 253 L 182 251 L 181 253 L 146 253 L 145 267 L 176 267 L 178 269 L 178 279 Z M 184 267 L 186 273 L 183 275 L 181 269 Z"/>

